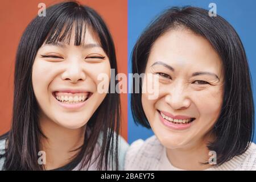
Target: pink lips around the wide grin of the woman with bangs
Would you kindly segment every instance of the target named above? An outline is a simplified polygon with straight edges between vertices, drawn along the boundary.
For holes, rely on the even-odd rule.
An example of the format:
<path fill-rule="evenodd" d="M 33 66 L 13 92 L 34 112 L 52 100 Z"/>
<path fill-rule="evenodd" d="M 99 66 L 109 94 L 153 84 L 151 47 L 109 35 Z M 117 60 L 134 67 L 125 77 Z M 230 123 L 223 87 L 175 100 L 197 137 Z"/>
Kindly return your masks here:
<path fill-rule="evenodd" d="M 76 89 L 76 90 L 73 90 L 73 89 L 61 89 L 61 90 L 53 91 L 52 92 L 52 97 L 55 100 L 55 102 L 57 102 L 57 104 L 60 105 L 61 107 L 64 107 L 65 109 L 71 109 L 71 110 L 77 110 L 77 109 L 80 109 L 81 107 L 83 107 L 87 103 L 87 101 L 89 100 L 90 96 L 84 102 L 80 102 L 80 103 L 77 103 L 77 104 L 65 104 L 64 102 L 57 101 L 57 99 L 55 97 L 55 93 L 56 92 L 63 92 L 63 93 L 89 93 L 90 96 L 92 96 L 92 92 L 88 92 L 88 90 L 82 90 L 82 89 L 79 89 L 79 90 L 78 89 Z"/>

